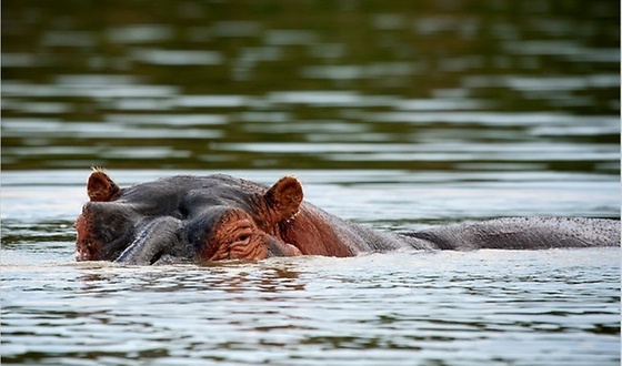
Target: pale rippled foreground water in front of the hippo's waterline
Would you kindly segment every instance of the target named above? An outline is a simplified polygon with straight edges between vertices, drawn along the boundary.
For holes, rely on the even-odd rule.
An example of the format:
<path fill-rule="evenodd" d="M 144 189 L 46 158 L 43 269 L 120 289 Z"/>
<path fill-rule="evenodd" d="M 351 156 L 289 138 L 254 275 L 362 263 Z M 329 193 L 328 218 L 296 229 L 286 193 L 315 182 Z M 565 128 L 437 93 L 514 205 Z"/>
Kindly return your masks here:
<path fill-rule="evenodd" d="M 480 251 L 129 268 L 11 255 L 3 362 L 614 365 L 618 256 Z"/>

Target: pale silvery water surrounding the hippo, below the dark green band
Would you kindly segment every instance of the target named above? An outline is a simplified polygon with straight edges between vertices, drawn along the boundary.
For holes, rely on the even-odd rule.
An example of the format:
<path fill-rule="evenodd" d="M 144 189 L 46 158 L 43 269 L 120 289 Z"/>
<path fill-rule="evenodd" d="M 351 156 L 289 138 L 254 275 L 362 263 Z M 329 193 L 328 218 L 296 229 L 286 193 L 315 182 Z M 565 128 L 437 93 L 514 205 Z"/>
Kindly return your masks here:
<path fill-rule="evenodd" d="M 112 173 L 127 185 L 214 172 Z M 267 184 L 281 174 L 225 173 Z M 88 174 L 3 173 L 3 364 L 620 362 L 619 248 L 76 263 L 71 224 Z M 620 185 L 605 174 L 325 170 L 299 177 L 311 202 L 379 230 L 509 212 L 620 212 Z"/>

